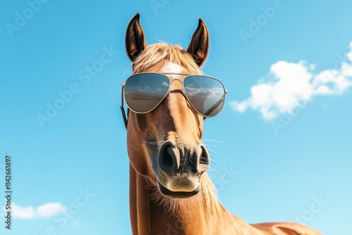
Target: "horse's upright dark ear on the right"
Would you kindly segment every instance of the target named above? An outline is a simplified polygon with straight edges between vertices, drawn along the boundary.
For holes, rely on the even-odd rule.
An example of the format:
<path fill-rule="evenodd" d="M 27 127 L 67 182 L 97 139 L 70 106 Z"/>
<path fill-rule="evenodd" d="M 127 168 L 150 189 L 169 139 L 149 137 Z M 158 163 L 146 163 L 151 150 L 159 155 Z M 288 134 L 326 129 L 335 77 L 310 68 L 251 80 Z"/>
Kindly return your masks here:
<path fill-rule="evenodd" d="M 206 24 L 199 18 L 199 23 L 194 32 L 187 52 L 193 57 L 199 67 L 206 61 L 209 51 L 209 34 Z"/>

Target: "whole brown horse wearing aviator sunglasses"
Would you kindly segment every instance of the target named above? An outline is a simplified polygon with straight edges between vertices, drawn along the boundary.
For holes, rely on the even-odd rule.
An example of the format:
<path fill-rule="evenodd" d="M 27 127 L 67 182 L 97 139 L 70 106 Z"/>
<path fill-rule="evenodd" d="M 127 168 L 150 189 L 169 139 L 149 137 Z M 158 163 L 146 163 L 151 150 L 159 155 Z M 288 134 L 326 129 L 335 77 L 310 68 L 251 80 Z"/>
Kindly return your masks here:
<path fill-rule="evenodd" d="M 199 19 L 186 51 L 163 43 L 146 46 L 137 13 L 127 27 L 125 43 L 133 70 L 133 78 L 122 84 L 121 97 L 130 158 L 133 234 L 320 234 L 289 222 L 247 224 L 218 202 L 206 174 L 210 158 L 202 144 L 203 120 L 220 112 L 226 91 L 214 78 L 192 76 L 201 75 L 208 55 L 208 29 L 203 20 Z M 194 83 L 198 88 L 208 89 L 209 82 L 220 87 L 222 95 L 209 112 L 201 110 L 199 103 L 209 102 L 210 95 L 206 99 L 201 93 L 192 96 L 190 79 L 208 82 Z M 162 84 L 167 88 L 163 90 Z"/>

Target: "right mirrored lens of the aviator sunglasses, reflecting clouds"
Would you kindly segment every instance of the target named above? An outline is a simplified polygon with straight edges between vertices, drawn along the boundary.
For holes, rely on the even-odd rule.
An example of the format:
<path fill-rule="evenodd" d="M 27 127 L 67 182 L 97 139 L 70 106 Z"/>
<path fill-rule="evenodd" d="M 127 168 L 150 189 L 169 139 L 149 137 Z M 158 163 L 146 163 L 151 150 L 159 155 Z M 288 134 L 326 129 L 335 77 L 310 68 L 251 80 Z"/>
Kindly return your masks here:
<path fill-rule="evenodd" d="M 191 105 L 202 115 L 218 115 L 225 103 L 225 88 L 221 82 L 201 75 L 186 77 L 184 91 Z"/>

